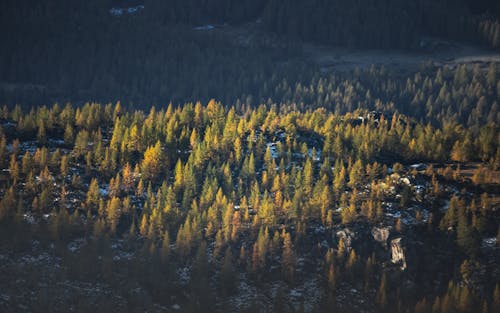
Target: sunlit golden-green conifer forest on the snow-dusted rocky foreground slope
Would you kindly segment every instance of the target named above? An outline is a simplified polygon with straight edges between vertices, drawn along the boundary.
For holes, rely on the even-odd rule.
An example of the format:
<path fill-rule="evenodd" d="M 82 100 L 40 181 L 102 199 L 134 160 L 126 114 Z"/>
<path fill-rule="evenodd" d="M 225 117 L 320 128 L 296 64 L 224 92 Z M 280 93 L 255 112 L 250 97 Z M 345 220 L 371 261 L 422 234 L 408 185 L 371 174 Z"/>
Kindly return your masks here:
<path fill-rule="evenodd" d="M 49 214 L 52 240 L 85 236 L 95 251 L 127 238 L 143 247 L 143 257 L 130 266 L 156 301 L 166 301 L 165 290 L 175 293 L 176 270 L 189 264 L 183 289 L 196 299 L 188 300 L 192 311 L 215 309 L 211 295 L 231 295 L 238 273 L 290 286 L 318 275 L 318 310 L 335 308 L 335 296 L 352 284 L 380 312 L 473 312 L 477 305 L 496 311 L 495 278 L 479 287 L 472 275 L 481 266 L 480 238 L 498 232 L 498 214 L 481 195 L 491 181 L 486 176 L 500 166 L 494 123 L 472 136 L 457 124 L 434 128 L 401 114 L 301 113 L 264 105 L 237 112 L 215 101 L 149 113 L 119 103 L 29 113 L 5 107 L 2 121 L 0 161 L 8 175 L 1 180 L 1 219 Z M 413 160 L 480 161 L 489 170 L 479 168 L 474 185 L 462 182 L 473 194 L 464 189 L 453 197 L 444 187 L 447 179 L 460 181 L 451 168 L 408 176 L 427 181 L 428 196 L 450 199 L 443 214 L 439 200 L 401 180 L 405 170 L 395 162 Z M 421 209 L 414 225 L 387 219 L 387 203 L 410 212 L 417 201 L 429 210 L 426 222 Z M 398 234 L 405 228 L 419 233 L 426 243 L 405 272 L 384 270 L 386 257 L 376 245 L 352 245 L 314 230 L 387 223 L 395 223 Z M 431 251 L 443 247 L 453 257 L 430 262 Z M 75 275 L 99 271 L 85 269 L 87 261 L 102 262 L 103 279 L 112 281 L 109 253 L 97 259 L 99 252 L 85 251 L 72 265 Z M 311 264 L 300 265 L 300 258 Z M 406 279 L 415 288 L 397 284 Z"/>

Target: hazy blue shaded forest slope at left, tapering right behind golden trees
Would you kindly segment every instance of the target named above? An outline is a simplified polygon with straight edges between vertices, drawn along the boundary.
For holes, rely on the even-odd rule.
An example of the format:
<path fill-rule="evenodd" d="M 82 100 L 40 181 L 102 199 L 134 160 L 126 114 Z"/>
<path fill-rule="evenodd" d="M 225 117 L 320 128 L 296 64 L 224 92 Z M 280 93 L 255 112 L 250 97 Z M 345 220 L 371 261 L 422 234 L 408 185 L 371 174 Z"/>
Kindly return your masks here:
<path fill-rule="evenodd" d="M 10 47 L 0 51 L 2 104 L 247 102 L 247 95 L 263 94 L 266 81 L 275 85 L 311 72 L 294 61 L 293 44 L 241 46 L 222 35 L 162 25 L 147 14 L 114 18 L 104 7 L 97 14 L 53 10 L 45 2 L 26 6 L 0 12 L 0 26 L 9 30 L 2 43 Z"/>

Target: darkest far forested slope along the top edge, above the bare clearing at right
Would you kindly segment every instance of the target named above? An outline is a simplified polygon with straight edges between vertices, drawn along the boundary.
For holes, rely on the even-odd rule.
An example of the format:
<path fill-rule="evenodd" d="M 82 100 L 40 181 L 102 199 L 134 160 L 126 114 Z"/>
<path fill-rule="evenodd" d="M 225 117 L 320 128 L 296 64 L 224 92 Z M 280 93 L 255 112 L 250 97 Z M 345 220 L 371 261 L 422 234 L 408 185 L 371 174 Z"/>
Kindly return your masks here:
<path fill-rule="evenodd" d="M 102 22 L 113 5 L 134 3 L 143 4 L 147 18 L 163 25 L 241 24 L 262 19 L 271 31 L 352 47 L 414 48 L 422 36 L 483 42 L 495 48 L 500 44 L 500 7 L 495 1 L 107 0 L 85 4 L 23 1 L 22 5 L 5 1 L 2 16 L 8 20 L 18 16 L 22 21 L 50 16 L 60 22 L 71 16 L 72 20 Z"/>

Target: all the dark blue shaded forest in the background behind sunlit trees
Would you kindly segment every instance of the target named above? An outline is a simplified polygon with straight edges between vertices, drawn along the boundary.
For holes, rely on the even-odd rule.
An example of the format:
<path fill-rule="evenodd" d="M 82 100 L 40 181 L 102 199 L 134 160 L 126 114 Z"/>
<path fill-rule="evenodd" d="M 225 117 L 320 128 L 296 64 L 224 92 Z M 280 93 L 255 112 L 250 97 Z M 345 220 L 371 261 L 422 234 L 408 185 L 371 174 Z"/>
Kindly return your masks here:
<path fill-rule="evenodd" d="M 325 99 L 315 91 L 302 94 L 302 88 L 316 88 L 321 80 L 335 89 L 339 81 L 348 81 L 362 92 L 359 97 L 370 91 L 384 104 L 408 108 L 411 100 L 406 98 L 418 100 L 419 94 L 410 91 L 405 99 L 395 97 L 408 93 L 401 84 L 414 77 L 395 80 L 384 74 L 377 81 L 386 87 L 377 88 L 359 75 L 325 77 L 303 59 L 296 39 L 352 47 L 418 48 L 424 36 L 440 36 L 496 47 L 500 36 L 498 9 L 492 5 L 471 11 L 462 1 L 379 1 L 376 7 L 317 2 L 146 1 L 137 14 L 115 17 L 111 7 L 141 2 L 3 1 L 1 41 L 8 49 L 0 51 L 0 96 L 10 105 L 122 100 L 124 105 L 147 108 L 216 98 L 237 107 L 271 101 L 307 108 L 339 106 L 338 112 L 345 112 L 345 106 L 349 110 L 360 106 L 339 103 L 333 90 L 324 91 L 329 93 L 326 102 L 319 101 Z M 308 17 L 307 23 L 303 16 Z M 192 29 L 258 18 L 265 29 L 289 36 L 241 45 L 220 33 Z M 421 74 L 435 75 L 430 70 Z M 393 83 L 398 84 L 395 93 L 388 89 Z M 433 94 L 431 102 L 437 98 L 435 90 Z M 470 110 L 466 111 L 468 116 Z"/>

